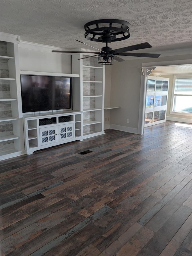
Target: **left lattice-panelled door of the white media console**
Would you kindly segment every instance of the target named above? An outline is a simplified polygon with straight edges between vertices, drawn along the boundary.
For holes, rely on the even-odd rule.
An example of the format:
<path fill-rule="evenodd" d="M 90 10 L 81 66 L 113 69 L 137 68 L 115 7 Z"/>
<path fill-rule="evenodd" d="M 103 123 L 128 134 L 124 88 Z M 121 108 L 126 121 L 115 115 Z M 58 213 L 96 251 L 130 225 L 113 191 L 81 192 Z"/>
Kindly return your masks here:
<path fill-rule="evenodd" d="M 40 128 L 40 146 L 57 142 L 57 126 Z"/>

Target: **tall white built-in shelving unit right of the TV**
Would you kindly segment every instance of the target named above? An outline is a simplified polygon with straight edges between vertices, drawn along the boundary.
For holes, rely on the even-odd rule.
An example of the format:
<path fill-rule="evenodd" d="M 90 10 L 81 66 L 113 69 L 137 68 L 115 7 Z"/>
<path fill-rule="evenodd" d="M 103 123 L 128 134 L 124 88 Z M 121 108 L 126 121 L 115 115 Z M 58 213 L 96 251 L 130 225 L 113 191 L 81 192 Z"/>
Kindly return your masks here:
<path fill-rule="evenodd" d="M 83 139 L 104 134 L 105 66 L 98 64 L 98 58 L 93 56 L 77 60 L 87 56 L 72 56 L 72 72 L 80 74 L 77 89 L 80 98 L 75 109 L 83 112 Z"/>

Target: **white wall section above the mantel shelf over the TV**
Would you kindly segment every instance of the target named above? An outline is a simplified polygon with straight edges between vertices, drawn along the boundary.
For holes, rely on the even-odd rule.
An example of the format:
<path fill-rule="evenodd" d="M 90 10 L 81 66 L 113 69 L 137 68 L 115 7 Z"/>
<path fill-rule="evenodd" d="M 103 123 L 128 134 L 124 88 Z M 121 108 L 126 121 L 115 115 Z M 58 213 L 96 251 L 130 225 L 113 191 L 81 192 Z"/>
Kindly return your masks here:
<path fill-rule="evenodd" d="M 28 47 L 28 48 L 26 48 Z M 19 44 L 19 68 L 26 71 L 72 73 L 71 56 L 52 53 L 51 47 Z"/>

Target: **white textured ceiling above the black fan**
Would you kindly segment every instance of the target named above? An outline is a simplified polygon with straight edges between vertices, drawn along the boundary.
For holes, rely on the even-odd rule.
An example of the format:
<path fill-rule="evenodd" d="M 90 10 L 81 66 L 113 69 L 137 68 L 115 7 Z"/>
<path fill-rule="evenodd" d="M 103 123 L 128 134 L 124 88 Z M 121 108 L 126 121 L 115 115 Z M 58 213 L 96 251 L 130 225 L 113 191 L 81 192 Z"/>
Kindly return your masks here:
<path fill-rule="evenodd" d="M 153 49 L 143 51 L 153 52 L 191 47 L 191 14 L 191 0 L 1 0 L 0 19 L 1 32 L 62 48 L 82 47 L 75 39 L 104 47 L 83 37 L 83 25 L 97 19 L 122 19 L 131 23 L 131 37 L 110 47 L 149 42 Z"/>

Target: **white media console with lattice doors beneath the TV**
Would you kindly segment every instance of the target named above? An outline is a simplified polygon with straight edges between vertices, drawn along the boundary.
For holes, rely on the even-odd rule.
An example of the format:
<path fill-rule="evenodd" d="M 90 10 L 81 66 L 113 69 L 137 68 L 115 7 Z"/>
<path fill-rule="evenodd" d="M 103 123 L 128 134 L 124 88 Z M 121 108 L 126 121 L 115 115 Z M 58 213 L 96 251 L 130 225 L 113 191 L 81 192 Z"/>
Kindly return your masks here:
<path fill-rule="evenodd" d="M 28 155 L 36 150 L 83 139 L 80 111 L 25 115 L 23 125 Z"/>

